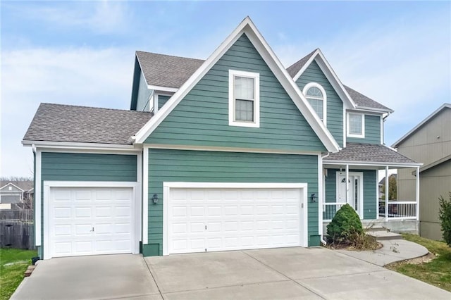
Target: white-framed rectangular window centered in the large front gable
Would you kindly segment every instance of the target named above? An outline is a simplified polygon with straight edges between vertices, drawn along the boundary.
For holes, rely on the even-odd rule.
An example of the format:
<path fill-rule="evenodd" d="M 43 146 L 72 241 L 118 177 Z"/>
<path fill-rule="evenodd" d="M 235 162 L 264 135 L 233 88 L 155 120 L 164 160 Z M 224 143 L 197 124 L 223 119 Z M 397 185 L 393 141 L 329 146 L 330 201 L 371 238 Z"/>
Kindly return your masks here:
<path fill-rule="evenodd" d="M 260 127 L 260 75 L 228 71 L 228 125 Z"/>

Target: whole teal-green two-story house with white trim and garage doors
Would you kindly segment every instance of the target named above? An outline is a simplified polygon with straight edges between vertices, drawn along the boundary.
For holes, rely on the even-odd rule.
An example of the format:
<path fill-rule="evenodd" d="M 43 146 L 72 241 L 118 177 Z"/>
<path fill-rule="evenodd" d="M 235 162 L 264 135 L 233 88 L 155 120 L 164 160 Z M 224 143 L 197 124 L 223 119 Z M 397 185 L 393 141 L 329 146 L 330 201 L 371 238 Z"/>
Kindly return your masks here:
<path fill-rule="evenodd" d="M 39 256 L 319 246 L 346 203 L 415 230 L 418 201 L 378 200 L 378 170 L 420 165 L 390 113 L 319 49 L 285 68 L 250 18 L 205 61 L 137 51 L 130 110 L 41 104 L 23 138 Z"/>

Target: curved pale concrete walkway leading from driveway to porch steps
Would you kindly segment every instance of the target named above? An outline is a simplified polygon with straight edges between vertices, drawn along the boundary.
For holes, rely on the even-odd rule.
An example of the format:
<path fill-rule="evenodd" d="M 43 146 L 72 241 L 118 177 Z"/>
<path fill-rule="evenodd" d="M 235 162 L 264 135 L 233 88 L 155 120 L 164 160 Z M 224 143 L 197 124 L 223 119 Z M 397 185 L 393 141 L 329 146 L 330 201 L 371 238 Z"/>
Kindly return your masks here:
<path fill-rule="evenodd" d="M 405 261 L 407 259 L 425 256 L 429 253 L 424 246 L 409 242 L 404 239 L 389 239 L 385 241 L 378 241 L 383 247 L 374 251 L 348 251 L 336 250 L 347 256 L 358 258 L 362 261 L 367 261 L 375 265 L 388 265 L 396 261 Z"/>

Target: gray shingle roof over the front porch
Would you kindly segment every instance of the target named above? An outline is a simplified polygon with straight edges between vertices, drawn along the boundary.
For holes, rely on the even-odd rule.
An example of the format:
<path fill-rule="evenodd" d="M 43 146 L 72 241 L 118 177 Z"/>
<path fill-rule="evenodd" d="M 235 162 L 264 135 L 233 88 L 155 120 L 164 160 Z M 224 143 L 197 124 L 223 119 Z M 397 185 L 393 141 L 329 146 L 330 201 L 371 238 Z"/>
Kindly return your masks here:
<path fill-rule="evenodd" d="M 347 143 L 346 147 L 324 158 L 327 161 L 355 161 L 368 163 L 416 163 L 407 156 L 380 144 Z"/>

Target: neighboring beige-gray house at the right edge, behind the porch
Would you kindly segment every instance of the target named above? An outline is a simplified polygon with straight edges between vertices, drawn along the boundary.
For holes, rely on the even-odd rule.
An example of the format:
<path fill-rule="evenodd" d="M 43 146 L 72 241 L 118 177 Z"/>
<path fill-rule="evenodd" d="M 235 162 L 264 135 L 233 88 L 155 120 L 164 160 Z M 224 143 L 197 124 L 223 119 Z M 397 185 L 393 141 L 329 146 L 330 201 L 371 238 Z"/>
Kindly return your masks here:
<path fill-rule="evenodd" d="M 421 121 L 393 147 L 400 154 L 423 163 L 420 168 L 420 235 L 442 239 L 438 197 L 451 192 L 451 104 L 443 104 Z M 415 177 L 398 170 L 398 196 L 414 199 Z"/>

